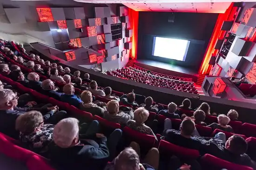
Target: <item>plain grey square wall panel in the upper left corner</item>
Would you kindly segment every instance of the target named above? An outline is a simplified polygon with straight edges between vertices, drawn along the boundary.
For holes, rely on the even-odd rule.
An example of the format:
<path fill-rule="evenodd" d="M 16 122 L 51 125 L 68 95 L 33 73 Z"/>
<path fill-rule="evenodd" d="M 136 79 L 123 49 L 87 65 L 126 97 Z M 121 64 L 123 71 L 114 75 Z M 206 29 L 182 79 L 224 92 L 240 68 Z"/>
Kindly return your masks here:
<path fill-rule="evenodd" d="M 21 8 L 5 8 L 6 16 L 11 24 L 27 23 Z"/>

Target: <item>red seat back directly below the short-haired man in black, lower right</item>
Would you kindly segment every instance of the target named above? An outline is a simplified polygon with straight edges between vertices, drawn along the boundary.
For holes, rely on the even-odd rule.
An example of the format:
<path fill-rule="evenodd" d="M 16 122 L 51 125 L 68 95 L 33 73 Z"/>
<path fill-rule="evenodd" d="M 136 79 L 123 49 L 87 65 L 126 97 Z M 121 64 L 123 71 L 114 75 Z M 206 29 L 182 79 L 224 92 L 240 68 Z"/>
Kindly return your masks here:
<path fill-rule="evenodd" d="M 199 151 L 197 151 L 197 150 L 188 149 L 188 148 L 184 148 L 182 146 L 174 145 L 165 140 L 160 141 L 159 153 L 160 153 L 160 155 L 164 155 L 164 156 L 175 155 L 177 157 L 190 158 L 190 159 L 196 159 L 196 158 L 200 157 Z"/>

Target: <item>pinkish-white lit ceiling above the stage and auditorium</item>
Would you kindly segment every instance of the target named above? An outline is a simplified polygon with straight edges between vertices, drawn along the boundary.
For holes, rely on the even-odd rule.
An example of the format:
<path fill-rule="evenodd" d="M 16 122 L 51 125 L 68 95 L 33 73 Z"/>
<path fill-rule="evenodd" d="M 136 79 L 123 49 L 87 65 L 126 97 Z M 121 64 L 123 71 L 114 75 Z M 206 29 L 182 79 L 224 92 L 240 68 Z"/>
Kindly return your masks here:
<path fill-rule="evenodd" d="M 122 3 L 135 11 L 224 13 L 231 2 L 241 0 L 74 0 L 86 3 Z M 171 2 L 171 3 L 170 3 Z M 255 0 L 243 0 L 255 2 Z"/>

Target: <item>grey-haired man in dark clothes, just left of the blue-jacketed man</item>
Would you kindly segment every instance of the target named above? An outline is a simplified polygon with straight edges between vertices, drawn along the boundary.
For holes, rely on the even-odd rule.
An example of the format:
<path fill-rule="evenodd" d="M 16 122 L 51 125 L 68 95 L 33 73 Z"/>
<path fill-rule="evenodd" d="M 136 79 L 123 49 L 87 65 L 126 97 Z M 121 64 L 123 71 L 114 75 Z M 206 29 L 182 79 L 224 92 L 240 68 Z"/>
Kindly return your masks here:
<path fill-rule="evenodd" d="M 47 94 L 49 97 L 52 97 L 56 100 L 61 100 L 61 94 L 57 92 L 58 88 L 55 88 L 54 82 L 50 79 L 44 80 L 42 82 L 42 90 L 41 93 Z"/>

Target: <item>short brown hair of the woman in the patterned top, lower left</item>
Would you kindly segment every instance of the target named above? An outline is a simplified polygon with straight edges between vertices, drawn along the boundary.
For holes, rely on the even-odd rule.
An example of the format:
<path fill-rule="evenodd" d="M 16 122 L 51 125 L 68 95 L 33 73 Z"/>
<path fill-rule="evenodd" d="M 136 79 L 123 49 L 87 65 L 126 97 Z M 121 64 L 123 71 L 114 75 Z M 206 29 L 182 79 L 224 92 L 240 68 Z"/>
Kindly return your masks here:
<path fill-rule="evenodd" d="M 30 111 L 21 114 L 15 123 L 15 128 L 21 133 L 32 133 L 34 130 L 43 123 L 43 115 L 39 111 Z"/>

